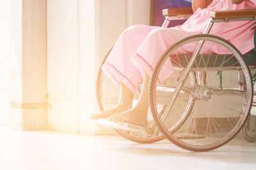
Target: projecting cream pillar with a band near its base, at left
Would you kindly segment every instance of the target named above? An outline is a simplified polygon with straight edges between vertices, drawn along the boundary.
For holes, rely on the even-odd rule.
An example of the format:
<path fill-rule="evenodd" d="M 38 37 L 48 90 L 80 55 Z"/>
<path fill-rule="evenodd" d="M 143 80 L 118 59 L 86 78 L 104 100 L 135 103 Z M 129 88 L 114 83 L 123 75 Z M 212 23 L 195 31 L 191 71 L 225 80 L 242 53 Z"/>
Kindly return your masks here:
<path fill-rule="evenodd" d="M 45 129 L 46 0 L 9 3 L 12 129 Z"/>

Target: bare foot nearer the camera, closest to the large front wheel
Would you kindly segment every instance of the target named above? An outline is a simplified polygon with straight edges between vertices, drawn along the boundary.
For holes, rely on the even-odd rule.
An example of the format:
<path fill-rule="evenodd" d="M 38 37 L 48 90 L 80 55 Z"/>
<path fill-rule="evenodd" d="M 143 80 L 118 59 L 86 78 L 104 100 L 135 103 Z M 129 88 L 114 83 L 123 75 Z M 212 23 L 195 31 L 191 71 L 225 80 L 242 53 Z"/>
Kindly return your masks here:
<path fill-rule="evenodd" d="M 113 122 L 127 122 L 135 125 L 147 127 L 147 109 L 145 108 L 132 108 L 131 110 L 115 113 L 108 117 L 109 121 Z"/>

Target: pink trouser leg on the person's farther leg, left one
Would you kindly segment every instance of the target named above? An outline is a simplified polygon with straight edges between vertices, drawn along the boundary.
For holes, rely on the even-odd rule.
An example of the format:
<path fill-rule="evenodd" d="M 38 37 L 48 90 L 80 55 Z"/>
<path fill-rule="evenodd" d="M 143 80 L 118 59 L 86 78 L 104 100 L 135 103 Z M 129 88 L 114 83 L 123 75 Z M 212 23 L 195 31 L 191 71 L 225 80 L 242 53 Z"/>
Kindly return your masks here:
<path fill-rule="evenodd" d="M 131 92 L 136 91 L 138 82 L 142 79 L 142 73 L 134 66 L 131 60 L 147 35 L 156 27 L 148 25 L 133 25 L 120 35 L 109 53 L 108 59 L 102 66 L 102 71 L 108 78 L 120 87 L 123 83 Z"/>

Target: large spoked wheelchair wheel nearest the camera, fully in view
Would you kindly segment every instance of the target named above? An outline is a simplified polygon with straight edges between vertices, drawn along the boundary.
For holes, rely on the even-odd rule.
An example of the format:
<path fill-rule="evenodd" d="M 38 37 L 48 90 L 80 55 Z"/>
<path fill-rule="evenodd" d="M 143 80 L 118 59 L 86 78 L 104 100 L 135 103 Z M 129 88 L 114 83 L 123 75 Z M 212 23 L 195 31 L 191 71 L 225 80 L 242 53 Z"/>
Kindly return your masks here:
<path fill-rule="evenodd" d="M 179 74 L 167 72 L 170 61 Z M 158 96 L 159 87 L 169 89 L 169 95 Z M 150 109 L 157 126 L 172 143 L 196 152 L 234 138 L 250 113 L 252 97 L 251 73 L 241 53 L 212 35 L 189 36 L 172 45 L 150 80 Z M 166 106 L 161 114 L 157 103 Z"/>

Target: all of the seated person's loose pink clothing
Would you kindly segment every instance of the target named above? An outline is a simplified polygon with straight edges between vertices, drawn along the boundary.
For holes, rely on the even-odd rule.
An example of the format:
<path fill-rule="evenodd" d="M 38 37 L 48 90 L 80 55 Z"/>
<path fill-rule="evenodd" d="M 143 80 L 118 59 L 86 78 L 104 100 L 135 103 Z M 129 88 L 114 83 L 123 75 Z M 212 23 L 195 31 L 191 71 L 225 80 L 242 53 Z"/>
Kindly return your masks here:
<path fill-rule="evenodd" d="M 182 38 L 193 34 L 202 34 L 211 18 L 210 11 L 240 10 L 256 8 L 256 0 L 246 0 L 241 4 L 232 4 L 230 0 L 213 0 L 205 9 L 200 8 L 182 25 L 171 28 L 134 25 L 125 29 L 109 54 L 102 70 L 120 87 L 124 83 L 132 92 L 136 90 L 144 71 L 151 76 L 154 66 L 164 51 Z M 210 34 L 220 36 L 234 44 L 241 53 L 254 48 L 253 34 L 255 21 L 218 22 L 214 23 Z M 219 53 L 218 46 L 215 46 Z M 163 81 L 173 72 L 172 62 L 168 61 L 164 74 L 159 76 Z"/>

